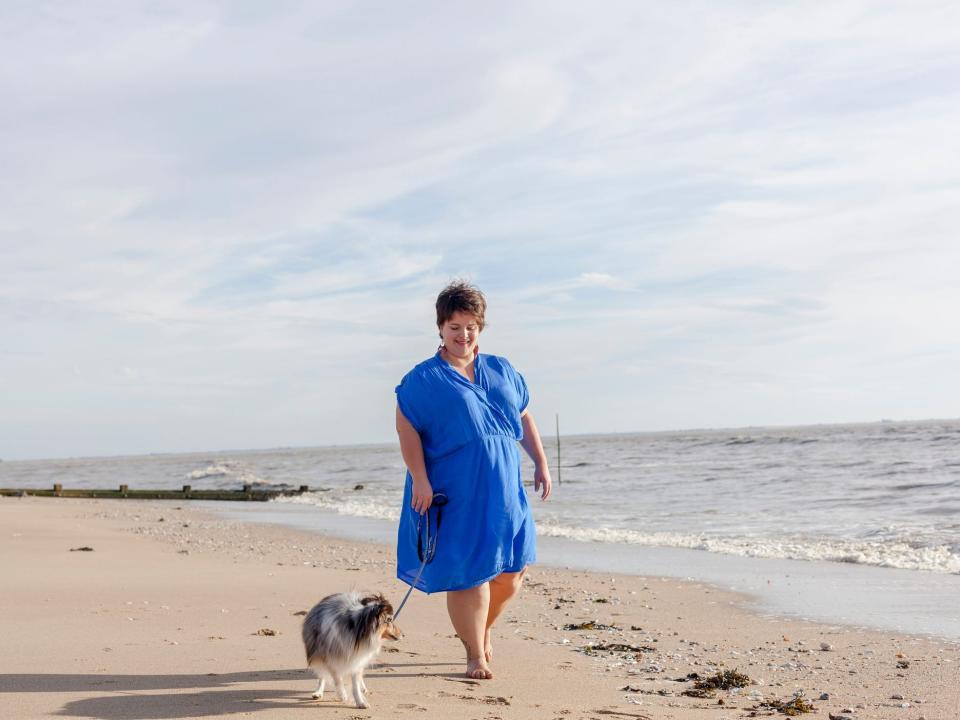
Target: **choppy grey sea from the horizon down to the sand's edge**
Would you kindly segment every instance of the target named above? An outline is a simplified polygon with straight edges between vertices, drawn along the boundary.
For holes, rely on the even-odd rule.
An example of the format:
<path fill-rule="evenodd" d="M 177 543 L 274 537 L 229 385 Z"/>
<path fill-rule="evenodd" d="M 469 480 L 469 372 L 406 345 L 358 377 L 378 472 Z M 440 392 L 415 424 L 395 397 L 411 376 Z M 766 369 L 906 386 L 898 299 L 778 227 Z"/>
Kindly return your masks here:
<path fill-rule="evenodd" d="M 737 590 L 759 612 L 960 641 L 960 420 L 544 438 L 540 561 Z M 559 460 L 558 460 L 559 458 Z M 298 488 L 224 517 L 391 542 L 396 443 L 0 462 L 0 487 Z M 441 538 L 442 542 L 442 538 Z"/>

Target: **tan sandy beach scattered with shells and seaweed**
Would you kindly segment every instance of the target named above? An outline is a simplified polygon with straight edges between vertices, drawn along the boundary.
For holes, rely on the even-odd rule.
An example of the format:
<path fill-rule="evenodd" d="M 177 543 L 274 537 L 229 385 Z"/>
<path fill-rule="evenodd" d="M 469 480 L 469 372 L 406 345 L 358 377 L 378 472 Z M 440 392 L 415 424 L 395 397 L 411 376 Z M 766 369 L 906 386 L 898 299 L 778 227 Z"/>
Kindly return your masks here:
<path fill-rule="evenodd" d="M 493 680 L 462 676 L 443 596 L 417 593 L 405 638 L 368 670 L 372 707 L 317 702 L 300 613 L 349 589 L 398 603 L 391 547 L 181 502 L 5 498 L 0 528 L 5 717 L 720 720 L 786 717 L 777 704 L 801 691 L 815 708 L 803 717 L 960 717 L 956 643 L 761 617 L 698 583 L 545 566 L 498 625 Z M 692 674 L 728 670 L 750 684 L 684 694 Z"/>

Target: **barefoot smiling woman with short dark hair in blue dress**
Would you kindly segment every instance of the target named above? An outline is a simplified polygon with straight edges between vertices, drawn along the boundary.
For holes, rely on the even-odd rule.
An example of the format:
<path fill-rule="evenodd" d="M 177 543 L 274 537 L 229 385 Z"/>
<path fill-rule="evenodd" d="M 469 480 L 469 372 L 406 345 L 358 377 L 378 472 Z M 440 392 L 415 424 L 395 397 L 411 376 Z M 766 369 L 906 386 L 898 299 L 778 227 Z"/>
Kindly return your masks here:
<path fill-rule="evenodd" d="M 536 561 L 518 441 L 534 462 L 542 499 L 552 485 L 523 377 L 505 358 L 480 354 L 486 308 L 472 285 L 444 288 L 437 298 L 442 344 L 397 386 L 397 434 L 408 470 L 397 577 L 415 582 L 421 527 L 430 523 L 436 554 L 417 587 L 446 591 L 450 621 L 467 651 L 467 677 L 478 680 L 493 677 L 490 628 Z M 448 502 L 428 513 L 435 492 Z"/>

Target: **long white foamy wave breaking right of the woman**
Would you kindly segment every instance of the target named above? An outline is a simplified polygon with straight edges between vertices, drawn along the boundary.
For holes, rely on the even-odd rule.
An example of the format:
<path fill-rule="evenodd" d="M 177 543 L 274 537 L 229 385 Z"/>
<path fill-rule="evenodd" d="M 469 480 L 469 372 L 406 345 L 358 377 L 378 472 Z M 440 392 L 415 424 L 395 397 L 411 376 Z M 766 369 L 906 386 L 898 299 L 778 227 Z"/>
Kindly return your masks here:
<path fill-rule="evenodd" d="M 840 538 L 743 538 L 683 533 L 642 533 L 616 528 L 566 527 L 538 523 L 537 533 L 580 542 L 704 550 L 741 557 L 820 560 L 857 565 L 960 574 L 960 555 L 949 545 L 917 547 L 905 540 L 858 541 Z"/>

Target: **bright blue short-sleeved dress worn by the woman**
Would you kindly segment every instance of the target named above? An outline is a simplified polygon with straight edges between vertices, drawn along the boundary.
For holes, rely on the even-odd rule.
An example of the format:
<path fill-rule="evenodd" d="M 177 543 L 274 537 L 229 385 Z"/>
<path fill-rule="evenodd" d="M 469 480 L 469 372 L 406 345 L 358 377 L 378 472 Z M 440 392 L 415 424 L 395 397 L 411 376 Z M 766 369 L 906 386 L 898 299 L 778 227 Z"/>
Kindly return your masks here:
<path fill-rule="evenodd" d="M 400 412 L 420 434 L 430 485 L 448 498 L 436 555 L 416 585 L 428 593 L 465 590 L 536 561 L 517 447 L 527 384 L 506 358 L 478 354 L 473 367 L 470 382 L 438 352 L 397 386 Z M 408 471 L 397 530 L 397 577 L 408 585 L 421 564 L 412 491 Z M 430 509 L 434 520 L 436 512 Z"/>

